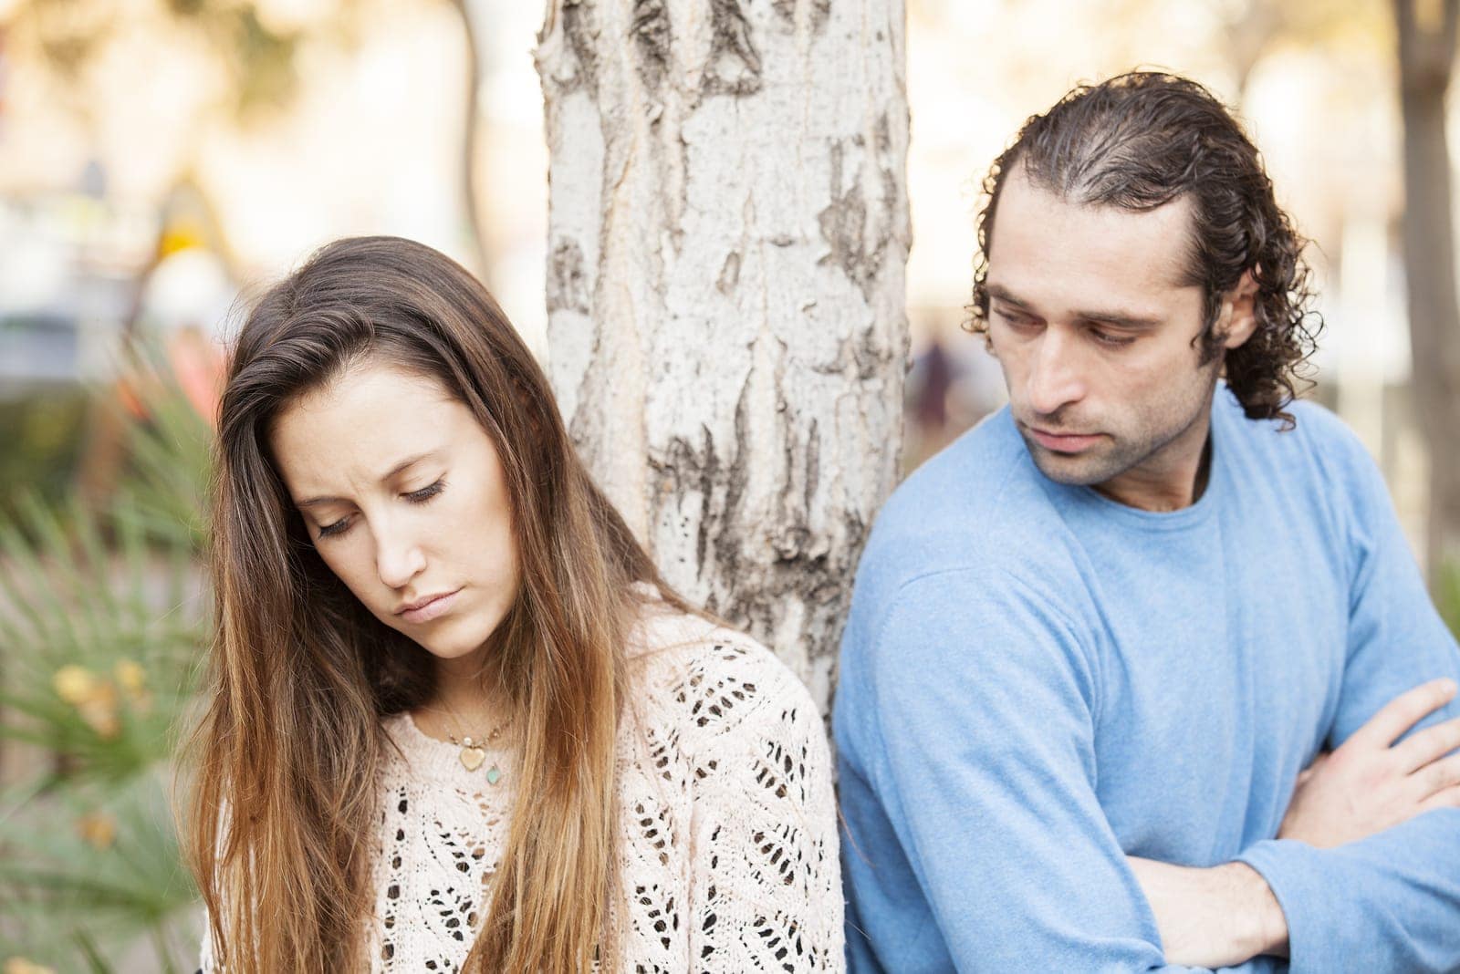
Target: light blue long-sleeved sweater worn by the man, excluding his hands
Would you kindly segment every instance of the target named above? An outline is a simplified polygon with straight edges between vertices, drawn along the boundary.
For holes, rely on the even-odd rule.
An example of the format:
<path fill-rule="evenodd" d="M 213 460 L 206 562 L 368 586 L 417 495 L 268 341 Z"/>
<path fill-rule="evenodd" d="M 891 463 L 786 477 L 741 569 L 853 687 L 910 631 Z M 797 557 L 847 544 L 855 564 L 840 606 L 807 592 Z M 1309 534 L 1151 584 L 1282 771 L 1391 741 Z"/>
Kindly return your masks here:
<path fill-rule="evenodd" d="M 1294 414 L 1219 388 L 1209 486 L 1172 513 L 1050 481 L 1007 411 L 894 494 L 834 717 L 853 974 L 1188 970 L 1127 854 L 1251 865 L 1294 973 L 1460 970 L 1460 809 L 1273 838 L 1321 748 L 1460 679 L 1374 464 Z"/>

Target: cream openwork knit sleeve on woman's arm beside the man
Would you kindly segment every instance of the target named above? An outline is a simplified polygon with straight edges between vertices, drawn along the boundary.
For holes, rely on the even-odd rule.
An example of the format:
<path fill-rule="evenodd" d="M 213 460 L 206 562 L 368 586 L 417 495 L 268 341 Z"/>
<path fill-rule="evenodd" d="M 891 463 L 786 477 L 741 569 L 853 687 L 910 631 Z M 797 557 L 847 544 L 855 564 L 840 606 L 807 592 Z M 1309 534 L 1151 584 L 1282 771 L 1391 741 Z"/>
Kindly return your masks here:
<path fill-rule="evenodd" d="M 842 971 L 831 752 L 816 704 L 759 646 L 723 647 L 695 691 L 694 970 Z"/>

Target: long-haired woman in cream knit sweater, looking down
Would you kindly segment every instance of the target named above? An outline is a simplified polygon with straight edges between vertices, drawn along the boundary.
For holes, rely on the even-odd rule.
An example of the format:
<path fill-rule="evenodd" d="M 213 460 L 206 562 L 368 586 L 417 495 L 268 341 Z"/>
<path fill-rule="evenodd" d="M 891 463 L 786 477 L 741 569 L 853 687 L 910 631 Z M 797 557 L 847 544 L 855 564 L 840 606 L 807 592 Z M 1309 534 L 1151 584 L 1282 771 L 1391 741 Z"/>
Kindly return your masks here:
<path fill-rule="evenodd" d="M 461 267 L 347 239 L 267 292 L 216 477 L 206 970 L 841 970 L 815 706 L 660 580 Z"/>

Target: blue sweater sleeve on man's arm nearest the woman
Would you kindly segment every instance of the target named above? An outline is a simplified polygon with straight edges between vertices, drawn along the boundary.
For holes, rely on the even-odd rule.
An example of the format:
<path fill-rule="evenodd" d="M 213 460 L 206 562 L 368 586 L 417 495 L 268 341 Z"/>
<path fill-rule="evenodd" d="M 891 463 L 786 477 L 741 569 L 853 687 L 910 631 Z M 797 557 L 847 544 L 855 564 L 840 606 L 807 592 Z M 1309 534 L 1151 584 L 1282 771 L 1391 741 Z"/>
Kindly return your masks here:
<path fill-rule="evenodd" d="M 1191 970 L 1101 809 L 1098 674 L 1051 602 L 949 570 L 869 615 L 837 701 L 853 970 Z"/>

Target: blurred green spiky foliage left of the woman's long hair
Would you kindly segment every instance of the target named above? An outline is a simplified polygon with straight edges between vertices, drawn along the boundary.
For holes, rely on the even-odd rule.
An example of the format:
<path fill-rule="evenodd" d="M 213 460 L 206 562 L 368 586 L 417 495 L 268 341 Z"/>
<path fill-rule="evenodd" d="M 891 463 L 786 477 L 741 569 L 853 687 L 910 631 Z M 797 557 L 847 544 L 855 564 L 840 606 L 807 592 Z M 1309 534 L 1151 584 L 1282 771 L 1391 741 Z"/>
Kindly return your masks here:
<path fill-rule="evenodd" d="M 140 939 L 158 970 L 196 951 L 169 795 L 209 633 L 210 430 L 159 369 L 131 392 L 107 503 L 31 490 L 0 519 L 0 961 L 55 971 L 118 970 Z"/>

